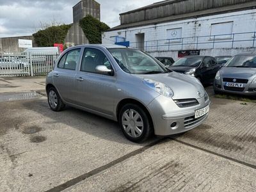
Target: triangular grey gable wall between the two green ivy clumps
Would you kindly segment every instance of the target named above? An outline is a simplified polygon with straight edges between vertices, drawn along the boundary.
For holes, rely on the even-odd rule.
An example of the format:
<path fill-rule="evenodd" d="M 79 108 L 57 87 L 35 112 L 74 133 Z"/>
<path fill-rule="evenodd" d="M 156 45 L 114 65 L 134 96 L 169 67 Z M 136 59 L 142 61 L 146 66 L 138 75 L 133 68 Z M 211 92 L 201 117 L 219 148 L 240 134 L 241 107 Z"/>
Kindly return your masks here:
<path fill-rule="evenodd" d="M 84 35 L 83 29 L 79 26 L 79 23 L 72 24 L 65 38 L 65 45 L 71 47 L 81 44 L 89 44 L 89 40 Z"/>

